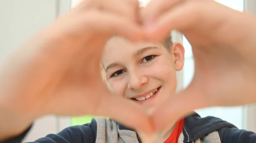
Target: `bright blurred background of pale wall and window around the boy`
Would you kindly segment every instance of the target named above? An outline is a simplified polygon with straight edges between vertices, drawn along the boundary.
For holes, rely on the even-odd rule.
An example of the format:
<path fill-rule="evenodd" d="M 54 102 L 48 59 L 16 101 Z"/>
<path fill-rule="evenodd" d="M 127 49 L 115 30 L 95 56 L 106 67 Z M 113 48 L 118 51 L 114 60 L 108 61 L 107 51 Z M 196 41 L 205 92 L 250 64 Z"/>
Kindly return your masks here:
<path fill-rule="evenodd" d="M 80 0 L 0 0 L 0 64 L 23 42 L 41 28 L 51 23 Z M 238 11 L 256 14 L 256 0 L 215 0 Z M 148 0 L 140 0 L 145 5 Z M 185 65 L 177 73 L 178 89 L 186 88 L 194 74 L 194 59 L 191 45 L 179 32 L 172 33 L 173 40 L 185 47 Z M 81 107 L 84 108 L 84 107 Z M 239 129 L 256 132 L 256 105 L 239 107 L 212 107 L 196 110 L 202 117 L 212 115 L 236 125 Z M 60 117 L 48 115 L 38 119 L 24 142 L 34 141 L 49 133 L 57 133 L 68 126 L 89 123 L 93 115 Z M 18 120 L 18 119 L 17 119 Z"/>

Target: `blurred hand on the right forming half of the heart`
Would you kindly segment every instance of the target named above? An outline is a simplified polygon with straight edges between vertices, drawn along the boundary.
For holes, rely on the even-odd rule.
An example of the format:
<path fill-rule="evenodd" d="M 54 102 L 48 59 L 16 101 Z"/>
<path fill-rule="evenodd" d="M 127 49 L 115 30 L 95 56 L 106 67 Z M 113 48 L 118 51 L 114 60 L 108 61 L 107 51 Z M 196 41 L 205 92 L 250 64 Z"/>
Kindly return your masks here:
<path fill-rule="evenodd" d="M 149 40 L 181 31 L 195 59 L 191 84 L 154 112 L 157 130 L 193 109 L 256 102 L 255 17 L 213 0 L 152 0 L 143 21 Z"/>

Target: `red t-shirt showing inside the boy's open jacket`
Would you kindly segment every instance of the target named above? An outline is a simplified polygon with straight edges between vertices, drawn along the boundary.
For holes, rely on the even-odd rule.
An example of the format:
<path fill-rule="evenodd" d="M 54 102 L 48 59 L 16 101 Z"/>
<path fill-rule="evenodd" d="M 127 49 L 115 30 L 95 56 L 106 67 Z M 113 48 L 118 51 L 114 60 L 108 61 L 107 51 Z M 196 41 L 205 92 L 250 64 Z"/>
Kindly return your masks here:
<path fill-rule="evenodd" d="M 170 135 L 170 137 L 168 137 L 168 139 L 164 143 L 178 143 L 180 134 L 183 131 L 184 122 L 185 122 L 184 118 L 177 122 L 172 134 Z"/>

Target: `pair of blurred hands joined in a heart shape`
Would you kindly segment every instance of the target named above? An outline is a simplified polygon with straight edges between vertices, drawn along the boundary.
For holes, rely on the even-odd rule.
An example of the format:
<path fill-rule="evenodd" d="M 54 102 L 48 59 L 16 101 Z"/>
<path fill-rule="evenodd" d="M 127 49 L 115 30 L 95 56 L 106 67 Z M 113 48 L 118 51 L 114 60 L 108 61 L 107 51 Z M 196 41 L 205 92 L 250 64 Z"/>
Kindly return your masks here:
<path fill-rule="evenodd" d="M 0 134 L 18 134 L 50 113 L 104 115 L 151 133 L 192 109 L 256 101 L 253 16 L 212 0 L 152 0 L 142 14 L 138 7 L 137 0 L 84 0 L 23 45 L 1 68 L 0 109 L 7 130 Z M 107 90 L 99 67 L 103 47 L 113 35 L 160 41 L 172 29 L 191 43 L 195 75 L 186 90 L 149 116 Z"/>

